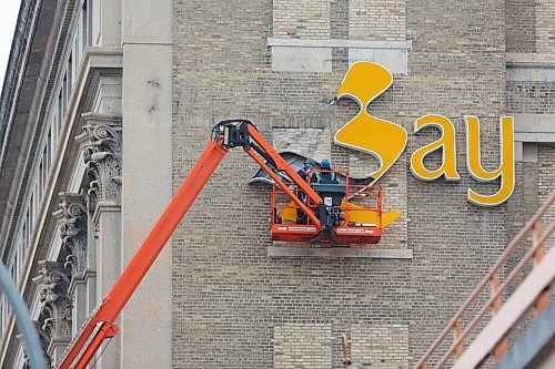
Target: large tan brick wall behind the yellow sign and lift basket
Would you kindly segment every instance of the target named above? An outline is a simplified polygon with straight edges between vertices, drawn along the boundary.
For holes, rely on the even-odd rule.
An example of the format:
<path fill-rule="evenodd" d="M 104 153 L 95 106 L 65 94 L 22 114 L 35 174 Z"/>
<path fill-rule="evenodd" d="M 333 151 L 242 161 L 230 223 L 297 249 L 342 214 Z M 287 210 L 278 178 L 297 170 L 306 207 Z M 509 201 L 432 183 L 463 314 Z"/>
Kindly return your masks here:
<path fill-rule="evenodd" d="M 320 11 L 322 19 L 329 19 L 331 34 L 345 38 L 349 30 L 353 37 L 345 20 L 354 3 L 322 2 Z M 281 134 L 292 132 L 292 140 L 303 134 L 327 140 L 359 112 L 351 101 L 329 104 L 347 68 L 345 50 L 334 51 L 331 73 L 272 71 L 266 40 L 278 37 L 280 4 L 174 2 L 175 187 L 208 143 L 210 127 L 221 119 L 250 119 L 278 144 Z M 283 3 L 283 19 L 287 7 Z M 295 7 L 291 6 L 292 13 Z M 468 187 L 493 193 L 497 184 L 468 177 L 462 120 L 464 114 L 481 117 L 484 166 L 494 167 L 498 116 L 506 111 L 505 20 L 500 17 L 505 2 L 417 0 L 405 7 L 406 38 L 413 42 L 410 73 L 395 76 L 369 111 L 410 132 L 405 155 L 382 185 L 386 206 L 406 209 L 384 237 L 384 247 L 410 248 L 414 259 L 269 258 L 269 188 L 248 185 L 258 167 L 241 151 L 232 152 L 173 237 L 175 368 L 271 368 L 279 366 L 276 359 L 294 365 L 292 358 L 305 360 L 312 345 L 294 353 L 292 340 L 302 341 L 295 335 L 314 338 L 315 330 L 331 337 L 317 360 L 331 355 L 332 368 L 342 366 L 339 337 L 345 332 L 352 336 L 353 349 L 356 341 L 367 347 L 357 353 L 357 366 L 367 357 L 412 365 L 506 246 L 507 224 L 514 219 L 511 205 L 482 208 L 465 199 Z M 326 32 L 319 22 L 313 27 L 316 35 L 310 30 L 296 32 L 307 32 L 303 38 Z M 423 183 L 410 174 L 408 155 L 437 137 L 433 130 L 411 133 L 414 120 L 427 113 L 444 114 L 456 125 L 462 177 L 457 183 Z M 360 172 L 374 163 L 330 145 L 337 168 Z M 303 146 L 290 144 L 296 150 Z M 306 150 L 324 145 L 311 147 Z M 431 157 L 430 164 L 436 160 Z M 517 177 L 523 177 L 524 168 L 518 171 Z M 517 192 L 524 194 L 522 183 Z M 395 325 L 401 325 L 401 336 L 407 335 L 395 350 L 382 352 L 364 344 Z M 361 328 L 355 335 L 355 326 L 379 328 Z M 325 342 L 314 345 L 322 348 Z"/>

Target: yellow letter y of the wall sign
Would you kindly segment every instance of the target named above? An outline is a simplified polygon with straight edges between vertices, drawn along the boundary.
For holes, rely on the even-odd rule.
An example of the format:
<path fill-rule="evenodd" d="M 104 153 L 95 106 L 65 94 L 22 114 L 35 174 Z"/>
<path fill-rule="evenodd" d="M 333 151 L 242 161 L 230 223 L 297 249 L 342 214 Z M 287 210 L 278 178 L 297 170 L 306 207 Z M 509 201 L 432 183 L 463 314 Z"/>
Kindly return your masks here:
<path fill-rule="evenodd" d="M 465 116 L 466 165 L 468 173 L 477 181 L 492 182 L 501 176 L 501 188 L 493 195 L 481 195 L 468 188 L 468 201 L 476 205 L 495 206 L 505 202 L 515 187 L 514 123 L 512 116 L 501 117 L 500 150 L 501 163 L 496 171 L 482 167 L 480 157 L 480 121 L 476 116 Z"/>

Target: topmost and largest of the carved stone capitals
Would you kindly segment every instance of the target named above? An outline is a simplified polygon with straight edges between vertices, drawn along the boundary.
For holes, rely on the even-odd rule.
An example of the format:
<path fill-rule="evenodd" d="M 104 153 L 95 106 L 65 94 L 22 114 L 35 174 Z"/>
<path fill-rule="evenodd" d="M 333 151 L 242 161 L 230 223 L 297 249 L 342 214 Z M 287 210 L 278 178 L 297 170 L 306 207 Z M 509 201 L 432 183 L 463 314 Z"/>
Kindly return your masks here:
<path fill-rule="evenodd" d="M 121 119 L 84 113 L 83 132 L 75 137 L 83 145 L 87 176 L 91 180 L 91 202 L 120 201 L 121 192 Z"/>

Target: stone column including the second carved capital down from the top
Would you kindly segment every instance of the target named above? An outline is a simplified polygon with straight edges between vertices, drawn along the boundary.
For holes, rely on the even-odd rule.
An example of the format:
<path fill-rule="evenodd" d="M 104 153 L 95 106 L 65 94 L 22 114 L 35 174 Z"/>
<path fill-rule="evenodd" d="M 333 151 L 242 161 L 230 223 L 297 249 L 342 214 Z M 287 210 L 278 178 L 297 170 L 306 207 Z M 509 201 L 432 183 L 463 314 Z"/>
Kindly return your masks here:
<path fill-rule="evenodd" d="M 60 193 L 59 209 L 52 215 L 60 224 L 62 247 L 68 254 L 64 267 L 71 270 L 68 296 L 73 301 L 72 336 L 87 319 L 92 307 L 89 304 L 89 280 L 94 281 L 94 270 L 89 266 L 88 211 L 83 196 Z M 93 289 L 94 290 L 94 289 Z"/>

